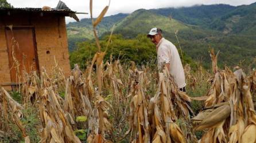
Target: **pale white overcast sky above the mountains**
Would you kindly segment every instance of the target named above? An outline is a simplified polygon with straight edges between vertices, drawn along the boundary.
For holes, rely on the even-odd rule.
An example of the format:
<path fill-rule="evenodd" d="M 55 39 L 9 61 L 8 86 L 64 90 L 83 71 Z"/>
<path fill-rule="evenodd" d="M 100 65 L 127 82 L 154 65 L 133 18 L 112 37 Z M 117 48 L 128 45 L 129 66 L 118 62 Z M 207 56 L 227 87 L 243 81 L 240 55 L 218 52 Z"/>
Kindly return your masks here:
<path fill-rule="evenodd" d="M 90 0 L 62 0 L 73 11 L 89 13 Z M 7 0 L 14 7 L 42 7 L 50 6 L 56 7 L 59 0 Z M 137 9 L 157 9 L 162 7 L 182 7 L 193 5 L 211 5 L 224 3 L 228 5 L 250 5 L 256 0 L 111 0 L 110 8 L 106 15 L 113 15 L 118 13 L 131 13 Z M 107 0 L 93 1 L 93 15 L 97 17 L 104 6 L 108 5 Z M 88 18 L 88 15 L 77 14 L 79 19 Z M 66 18 L 67 22 L 74 21 L 71 18 Z"/>

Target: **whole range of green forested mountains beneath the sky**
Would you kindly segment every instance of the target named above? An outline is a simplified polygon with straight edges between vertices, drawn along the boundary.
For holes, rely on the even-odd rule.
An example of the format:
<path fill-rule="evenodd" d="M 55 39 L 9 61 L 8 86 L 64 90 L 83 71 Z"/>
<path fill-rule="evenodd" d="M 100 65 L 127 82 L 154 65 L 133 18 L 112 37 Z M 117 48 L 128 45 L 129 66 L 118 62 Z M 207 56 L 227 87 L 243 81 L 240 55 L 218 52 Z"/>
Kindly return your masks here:
<path fill-rule="evenodd" d="M 102 38 L 106 37 L 115 23 L 115 34 L 122 35 L 125 39 L 133 39 L 138 34 L 146 35 L 152 27 L 161 27 L 164 37 L 177 47 L 179 45 L 177 38 L 179 38 L 184 53 L 195 61 L 203 61 L 205 67 L 210 62 L 208 55 L 210 46 L 220 50 L 221 66 L 234 66 L 238 63 L 253 66 L 256 56 L 255 19 L 255 3 L 236 7 L 221 4 L 177 9 L 139 9 L 129 15 L 117 14 L 104 18 L 98 27 L 98 33 Z M 91 19 L 83 19 L 80 23 L 69 23 L 67 27 L 69 37 L 75 38 L 75 35 L 81 35 L 83 38 L 93 38 Z M 75 30 L 71 28 L 81 30 L 73 34 Z M 73 47 L 70 49 L 72 50 Z"/>

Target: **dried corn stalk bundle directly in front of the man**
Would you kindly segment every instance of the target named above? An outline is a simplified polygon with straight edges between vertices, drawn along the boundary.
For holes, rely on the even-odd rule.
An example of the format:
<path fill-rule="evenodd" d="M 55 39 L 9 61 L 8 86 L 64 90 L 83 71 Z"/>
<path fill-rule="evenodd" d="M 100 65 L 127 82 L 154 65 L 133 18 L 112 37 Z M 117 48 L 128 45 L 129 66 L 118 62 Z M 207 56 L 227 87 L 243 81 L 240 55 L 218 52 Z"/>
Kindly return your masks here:
<path fill-rule="evenodd" d="M 183 132 L 172 120 L 175 114 L 168 99 L 168 90 L 166 90 L 164 73 L 160 73 L 159 91 L 156 96 L 150 100 L 149 117 L 152 117 L 153 142 L 186 142 Z M 159 107 L 158 107 L 159 106 Z M 152 115 L 153 114 L 153 115 Z M 174 115 L 175 116 L 175 115 Z"/>

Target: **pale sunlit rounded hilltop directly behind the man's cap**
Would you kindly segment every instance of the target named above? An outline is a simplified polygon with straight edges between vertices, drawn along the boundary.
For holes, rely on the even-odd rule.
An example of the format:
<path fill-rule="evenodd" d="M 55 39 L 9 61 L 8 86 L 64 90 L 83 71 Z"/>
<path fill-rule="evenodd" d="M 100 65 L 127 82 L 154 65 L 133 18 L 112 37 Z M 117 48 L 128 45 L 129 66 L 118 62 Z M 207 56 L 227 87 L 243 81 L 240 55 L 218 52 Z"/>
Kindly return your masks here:
<path fill-rule="evenodd" d="M 149 10 L 140 9 L 119 22 L 115 33 L 120 33 L 126 38 L 133 38 L 138 34 L 148 33 L 151 27 L 166 29 L 165 33 L 168 35 L 173 35 L 170 33 L 174 33 L 174 30 L 190 29 L 187 25 L 175 19 L 170 20 L 168 17 L 154 14 Z"/>

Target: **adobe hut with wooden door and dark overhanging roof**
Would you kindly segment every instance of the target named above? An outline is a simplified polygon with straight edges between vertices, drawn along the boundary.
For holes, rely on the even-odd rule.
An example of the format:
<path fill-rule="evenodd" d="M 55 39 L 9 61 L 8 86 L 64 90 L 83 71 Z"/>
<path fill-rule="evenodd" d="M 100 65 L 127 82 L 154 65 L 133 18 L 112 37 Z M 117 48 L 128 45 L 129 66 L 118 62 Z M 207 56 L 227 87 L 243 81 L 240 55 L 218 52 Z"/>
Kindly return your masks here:
<path fill-rule="evenodd" d="M 15 59 L 20 71 L 25 67 L 40 74 L 45 67 L 49 73 L 56 59 L 65 75 L 70 73 L 66 16 L 78 21 L 75 11 L 61 1 L 55 9 L 0 8 L 0 86 L 17 84 Z"/>

